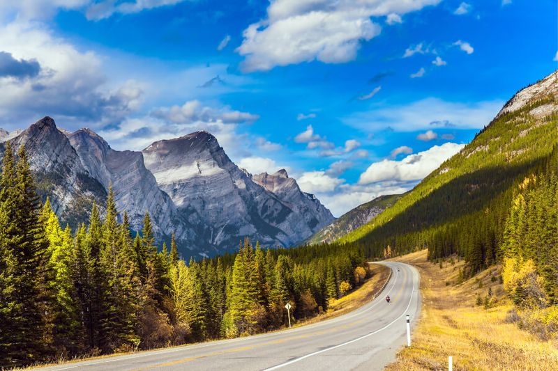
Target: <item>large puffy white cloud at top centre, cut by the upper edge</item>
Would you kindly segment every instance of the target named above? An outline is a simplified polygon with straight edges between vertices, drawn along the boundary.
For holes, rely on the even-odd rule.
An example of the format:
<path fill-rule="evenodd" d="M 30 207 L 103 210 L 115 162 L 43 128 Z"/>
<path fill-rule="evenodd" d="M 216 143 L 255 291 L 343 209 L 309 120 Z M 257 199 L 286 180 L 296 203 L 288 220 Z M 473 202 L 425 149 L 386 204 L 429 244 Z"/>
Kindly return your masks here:
<path fill-rule="evenodd" d="M 344 63 L 356 57 L 363 40 L 379 35 L 381 27 L 370 17 L 402 15 L 439 1 L 276 0 L 266 19 L 243 32 L 236 51 L 246 56 L 246 72 L 314 60 Z"/>

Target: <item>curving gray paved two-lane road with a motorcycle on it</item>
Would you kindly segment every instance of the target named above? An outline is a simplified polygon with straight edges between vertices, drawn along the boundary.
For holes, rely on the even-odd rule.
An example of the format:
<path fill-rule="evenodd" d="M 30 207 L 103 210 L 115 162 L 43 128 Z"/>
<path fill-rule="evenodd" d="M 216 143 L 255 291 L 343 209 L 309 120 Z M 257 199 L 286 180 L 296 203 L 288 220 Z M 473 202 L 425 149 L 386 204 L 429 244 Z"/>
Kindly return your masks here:
<path fill-rule="evenodd" d="M 418 271 L 384 262 L 392 274 L 384 292 L 350 313 L 295 329 L 41 370 L 382 370 L 407 343 L 405 315 L 418 318 Z M 391 297 L 386 303 L 385 297 Z"/>

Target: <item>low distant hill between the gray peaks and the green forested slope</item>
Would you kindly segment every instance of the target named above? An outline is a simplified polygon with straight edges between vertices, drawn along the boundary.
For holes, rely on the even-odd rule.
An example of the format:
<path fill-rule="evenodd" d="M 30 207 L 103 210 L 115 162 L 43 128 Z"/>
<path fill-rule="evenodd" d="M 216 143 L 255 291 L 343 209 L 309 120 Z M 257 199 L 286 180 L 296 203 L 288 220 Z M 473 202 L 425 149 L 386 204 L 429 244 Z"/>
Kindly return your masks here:
<path fill-rule="evenodd" d="M 308 244 L 321 244 L 323 242 L 333 242 L 336 239 L 347 235 L 356 228 L 359 228 L 376 216 L 381 214 L 387 207 L 396 203 L 402 195 L 394 194 L 389 196 L 379 196 L 368 203 L 363 203 L 353 210 L 343 214 L 333 223 L 329 224 L 312 235 L 306 242 Z"/>

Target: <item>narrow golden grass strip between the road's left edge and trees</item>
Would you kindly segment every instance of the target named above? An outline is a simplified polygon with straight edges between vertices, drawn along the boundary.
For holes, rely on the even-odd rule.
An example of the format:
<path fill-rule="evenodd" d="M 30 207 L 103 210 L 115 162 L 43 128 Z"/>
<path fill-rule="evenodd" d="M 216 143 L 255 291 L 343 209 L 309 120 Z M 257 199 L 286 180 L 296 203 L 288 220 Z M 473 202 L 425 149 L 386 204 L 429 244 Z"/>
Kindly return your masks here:
<path fill-rule="evenodd" d="M 389 277 L 390 269 L 385 265 L 374 263 L 370 263 L 368 269 L 372 272 L 372 277 L 368 278 L 368 280 L 363 283 L 361 287 L 352 292 L 349 292 L 349 294 L 345 295 L 345 297 L 333 301 L 326 313 L 317 315 L 316 317 L 312 317 L 310 319 L 306 319 L 306 321 L 301 321 L 299 322 L 299 324 L 296 324 L 296 326 L 312 324 L 315 322 L 323 321 L 324 319 L 344 315 L 345 313 L 348 313 L 351 310 L 355 310 L 356 308 L 359 308 L 365 303 L 368 303 L 368 301 L 372 300 L 372 298 L 378 294 L 379 290 L 382 289 L 384 283 L 386 283 Z"/>

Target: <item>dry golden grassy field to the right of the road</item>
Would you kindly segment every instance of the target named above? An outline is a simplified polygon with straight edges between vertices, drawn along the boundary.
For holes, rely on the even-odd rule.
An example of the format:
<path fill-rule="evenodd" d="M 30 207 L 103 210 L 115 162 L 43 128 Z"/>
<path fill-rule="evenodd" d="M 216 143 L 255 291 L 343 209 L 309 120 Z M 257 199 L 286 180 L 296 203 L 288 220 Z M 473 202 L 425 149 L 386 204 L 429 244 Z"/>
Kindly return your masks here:
<path fill-rule="evenodd" d="M 393 260 L 421 272 L 423 307 L 412 347 L 387 370 L 447 370 L 448 356 L 453 370 L 558 370 L 558 340 L 538 340 L 506 320 L 512 306 L 497 267 L 460 282 L 457 258 L 442 268 L 425 250 Z"/>

